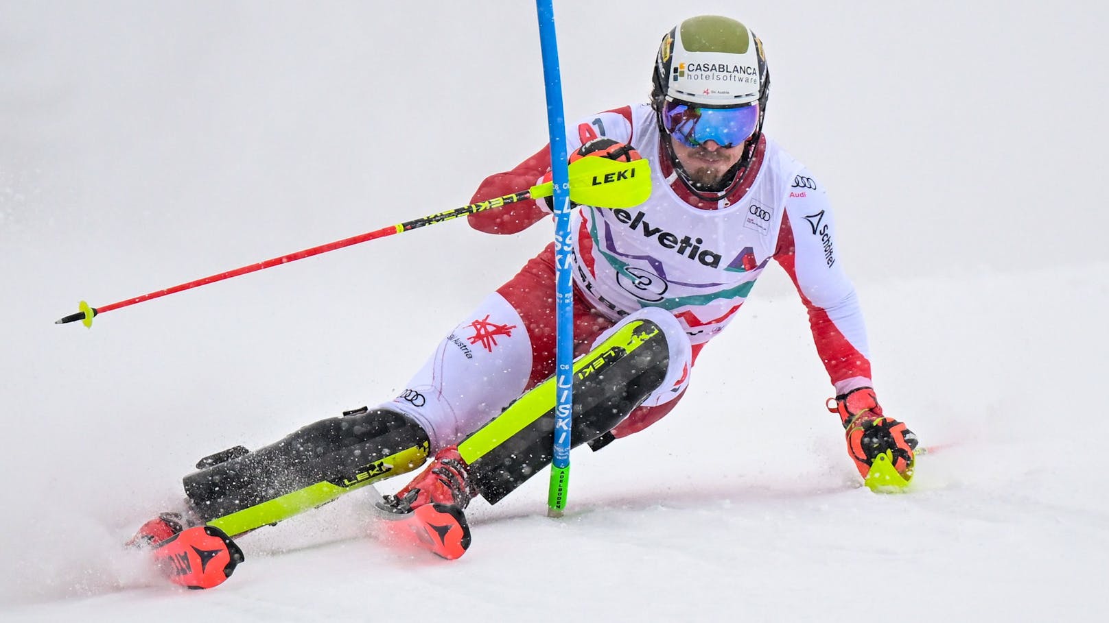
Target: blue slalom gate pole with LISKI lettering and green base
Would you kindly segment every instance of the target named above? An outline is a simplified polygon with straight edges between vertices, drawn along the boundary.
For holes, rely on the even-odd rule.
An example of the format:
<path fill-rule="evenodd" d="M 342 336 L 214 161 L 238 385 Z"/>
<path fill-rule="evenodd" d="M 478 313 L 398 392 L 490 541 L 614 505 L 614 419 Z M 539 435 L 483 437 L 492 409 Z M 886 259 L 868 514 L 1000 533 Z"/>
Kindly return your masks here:
<path fill-rule="evenodd" d="M 561 517 L 570 483 L 570 423 L 573 411 L 573 292 L 570 283 L 570 176 L 567 172 L 566 121 L 562 111 L 562 78 L 558 64 L 552 0 L 536 0 L 539 44 L 543 54 L 547 90 L 547 125 L 551 139 L 551 174 L 554 181 L 554 313 L 557 337 L 554 375 L 554 453 L 547 514 Z"/>

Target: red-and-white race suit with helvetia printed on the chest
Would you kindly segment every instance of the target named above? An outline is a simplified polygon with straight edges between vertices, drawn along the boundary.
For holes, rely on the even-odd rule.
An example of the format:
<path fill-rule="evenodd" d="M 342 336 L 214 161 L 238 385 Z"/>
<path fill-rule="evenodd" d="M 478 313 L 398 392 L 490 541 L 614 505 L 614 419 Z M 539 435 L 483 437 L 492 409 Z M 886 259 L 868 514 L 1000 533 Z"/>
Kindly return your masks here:
<path fill-rule="evenodd" d="M 816 350 L 836 394 L 871 386 L 871 362 L 855 288 L 837 255 L 824 188 L 763 136 L 741 182 L 719 202 L 694 196 L 663 155 L 654 112 L 635 104 L 568 127 L 568 152 L 608 137 L 651 161 L 652 193 L 629 210 L 581 206 L 572 215 L 574 339 L 582 351 L 621 318 L 664 310 L 674 351 L 663 387 L 613 432 L 653 423 L 683 395 L 696 354 L 739 312 L 775 259 L 808 310 Z M 537 183 L 550 168 L 543 147 L 489 176 L 474 202 Z M 540 200 L 542 201 L 542 200 Z M 471 214 L 482 232 L 512 234 L 550 212 L 528 202 Z M 553 246 L 548 246 L 458 325 L 405 392 L 388 404 L 417 419 L 434 447 L 456 442 L 553 374 Z M 676 321 L 669 321 L 672 318 Z"/>

